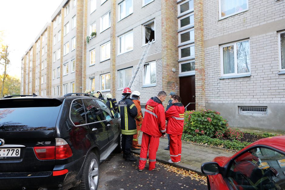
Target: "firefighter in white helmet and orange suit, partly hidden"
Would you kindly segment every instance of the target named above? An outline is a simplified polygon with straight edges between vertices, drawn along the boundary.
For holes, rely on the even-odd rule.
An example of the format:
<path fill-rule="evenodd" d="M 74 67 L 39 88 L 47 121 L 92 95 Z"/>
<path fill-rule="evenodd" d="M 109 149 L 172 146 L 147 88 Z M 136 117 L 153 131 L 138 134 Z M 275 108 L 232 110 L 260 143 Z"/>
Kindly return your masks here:
<path fill-rule="evenodd" d="M 140 107 L 140 101 L 139 101 L 139 96 L 140 93 L 139 91 L 134 91 L 132 92 L 132 101 L 136 105 L 136 108 L 138 110 L 138 115 L 135 117 L 136 119 L 136 129 L 138 130 L 137 134 L 133 136 L 132 139 L 132 148 L 133 150 L 140 150 L 141 145 L 139 144 L 139 133 L 140 133 L 140 128 L 143 123 L 143 113 L 142 113 L 142 108 Z"/>

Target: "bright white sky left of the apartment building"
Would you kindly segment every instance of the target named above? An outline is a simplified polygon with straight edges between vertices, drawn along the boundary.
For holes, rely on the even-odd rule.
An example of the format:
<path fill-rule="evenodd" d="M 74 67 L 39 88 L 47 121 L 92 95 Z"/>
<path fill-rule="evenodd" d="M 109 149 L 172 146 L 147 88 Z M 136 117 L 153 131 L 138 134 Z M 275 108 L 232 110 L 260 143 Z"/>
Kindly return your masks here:
<path fill-rule="evenodd" d="M 62 0 L 0 0 L 0 31 L 8 44 L 11 64 L 8 75 L 21 77 L 21 58 L 35 42 L 42 28 L 51 22 L 52 14 Z M 0 65 L 0 74 L 4 66 Z"/>

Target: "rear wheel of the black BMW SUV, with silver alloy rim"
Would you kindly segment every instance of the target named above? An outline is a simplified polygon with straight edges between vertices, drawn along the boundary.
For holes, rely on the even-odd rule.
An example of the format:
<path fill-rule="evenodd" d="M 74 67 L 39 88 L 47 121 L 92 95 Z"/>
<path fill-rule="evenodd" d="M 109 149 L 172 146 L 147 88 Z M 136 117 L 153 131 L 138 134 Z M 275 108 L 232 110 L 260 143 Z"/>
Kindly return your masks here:
<path fill-rule="evenodd" d="M 97 190 L 99 185 L 99 161 L 94 152 L 86 156 L 81 182 L 76 189 Z"/>

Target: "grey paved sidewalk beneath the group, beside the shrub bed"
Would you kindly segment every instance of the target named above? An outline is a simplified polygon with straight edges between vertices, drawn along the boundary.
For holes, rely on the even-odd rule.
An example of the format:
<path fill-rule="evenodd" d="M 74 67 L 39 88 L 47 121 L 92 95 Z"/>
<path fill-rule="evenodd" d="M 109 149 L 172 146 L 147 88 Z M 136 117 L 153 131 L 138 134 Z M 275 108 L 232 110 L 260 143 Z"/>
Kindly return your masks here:
<path fill-rule="evenodd" d="M 142 132 L 139 135 L 139 144 L 142 142 Z M 169 164 L 170 159 L 169 150 L 164 150 L 168 146 L 168 139 L 160 138 L 159 148 L 156 153 L 156 161 Z M 132 152 L 139 154 L 140 150 L 132 150 Z M 204 175 L 201 172 L 201 165 L 204 162 L 211 162 L 216 156 L 232 156 L 236 151 L 228 151 L 221 148 L 212 148 L 210 146 L 198 145 L 195 143 L 188 143 L 182 141 L 181 162 L 174 165 L 178 168 L 183 168 Z"/>

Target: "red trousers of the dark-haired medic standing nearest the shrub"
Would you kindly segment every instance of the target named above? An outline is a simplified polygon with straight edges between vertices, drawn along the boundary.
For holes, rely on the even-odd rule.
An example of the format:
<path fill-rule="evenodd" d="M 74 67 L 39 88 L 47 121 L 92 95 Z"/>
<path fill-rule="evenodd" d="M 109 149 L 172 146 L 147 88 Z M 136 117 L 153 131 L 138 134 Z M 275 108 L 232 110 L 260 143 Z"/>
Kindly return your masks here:
<path fill-rule="evenodd" d="M 181 161 L 181 137 L 182 135 L 171 135 L 170 136 L 170 158 L 172 162 Z"/>

